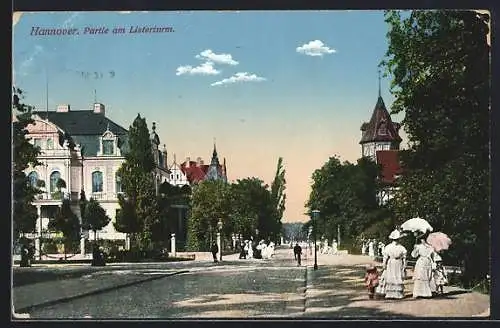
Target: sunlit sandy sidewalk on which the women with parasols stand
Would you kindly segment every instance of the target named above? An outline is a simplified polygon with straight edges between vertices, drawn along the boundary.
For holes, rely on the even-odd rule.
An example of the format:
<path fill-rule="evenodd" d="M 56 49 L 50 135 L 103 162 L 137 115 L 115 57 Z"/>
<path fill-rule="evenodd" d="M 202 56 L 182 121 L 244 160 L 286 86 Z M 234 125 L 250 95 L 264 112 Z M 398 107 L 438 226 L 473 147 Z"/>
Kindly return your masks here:
<path fill-rule="evenodd" d="M 413 299 L 411 277 L 405 281 L 402 300 L 370 300 L 364 286 L 367 264 L 377 263 L 363 255 L 318 254 L 318 270 L 314 258 L 307 264 L 305 317 L 462 317 L 489 316 L 489 295 L 446 286 L 446 295 L 433 299 Z M 411 271 L 408 271 L 411 276 Z"/>

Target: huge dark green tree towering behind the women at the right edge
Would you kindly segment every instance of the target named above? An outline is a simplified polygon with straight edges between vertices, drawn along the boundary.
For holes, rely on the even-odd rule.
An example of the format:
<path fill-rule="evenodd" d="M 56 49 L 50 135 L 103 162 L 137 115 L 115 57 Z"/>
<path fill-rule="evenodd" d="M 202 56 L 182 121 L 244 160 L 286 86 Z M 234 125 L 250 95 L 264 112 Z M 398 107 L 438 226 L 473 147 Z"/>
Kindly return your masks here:
<path fill-rule="evenodd" d="M 468 280 L 489 271 L 490 47 L 487 15 L 388 11 L 393 113 L 404 112 L 409 149 L 394 208 L 419 215 L 454 242 L 444 260 L 465 260 Z"/>

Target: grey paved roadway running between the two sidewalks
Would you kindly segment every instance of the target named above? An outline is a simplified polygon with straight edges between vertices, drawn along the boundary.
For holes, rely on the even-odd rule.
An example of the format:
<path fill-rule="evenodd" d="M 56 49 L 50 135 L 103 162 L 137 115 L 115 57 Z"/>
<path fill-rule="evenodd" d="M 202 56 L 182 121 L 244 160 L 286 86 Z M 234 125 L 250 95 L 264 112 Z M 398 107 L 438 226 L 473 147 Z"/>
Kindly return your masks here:
<path fill-rule="evenodd" d="M 164 268 L 162 269 L 162 265 Z M 167 268 L 168 267 L 168 268 Z M 290 250 L 272 260 L 223 263 L 167 263 L 87 274 L 161 274 L 172 268 L 188 273 L 34 309 L 33 319 L 286 317 L 305 311 L 306 268 L 297 267 Z"/>

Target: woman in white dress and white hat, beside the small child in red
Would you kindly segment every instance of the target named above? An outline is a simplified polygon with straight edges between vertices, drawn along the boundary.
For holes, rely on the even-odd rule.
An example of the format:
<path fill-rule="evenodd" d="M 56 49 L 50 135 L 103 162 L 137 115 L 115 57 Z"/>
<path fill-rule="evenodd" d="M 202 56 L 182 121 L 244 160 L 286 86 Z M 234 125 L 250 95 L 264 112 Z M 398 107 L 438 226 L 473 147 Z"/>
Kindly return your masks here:
<path fill-rule="evenodd" d="M 404 272 L 406 268 L 406 248 L 398 242 L 402 234 L 394 230 L 389 235 L 392 242 L 384 247 L 384 282 L 385 298 L 401 299 L 404 297 Z"/>

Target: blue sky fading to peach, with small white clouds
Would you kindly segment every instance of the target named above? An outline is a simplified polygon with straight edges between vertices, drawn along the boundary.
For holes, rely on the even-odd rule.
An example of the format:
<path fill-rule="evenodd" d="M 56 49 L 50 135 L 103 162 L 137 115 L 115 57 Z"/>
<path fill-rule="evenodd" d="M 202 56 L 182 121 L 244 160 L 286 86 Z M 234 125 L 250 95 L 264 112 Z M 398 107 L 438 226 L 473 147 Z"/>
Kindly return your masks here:
<path fill-rule="evenodd" d="M 388 47 L 382 11 L 14 15 L 13 83 L 27 103 L 78 110 L 97 100 L 125 128 L 140 113 L 156 122 L 169 164 L 174 154 L 177 163 L 209 162 L 215 140 L 230 181 L 271 184 L 283 157 L 283 222 L 308 220 L 311 176 L 329 157 L 360 157 Z M 77 33 L 36 35 L 37 27 Z M 142 27 L 164 29 L 130 33 Z M 388 108 L 389 84 L 381 79 Z"/>

